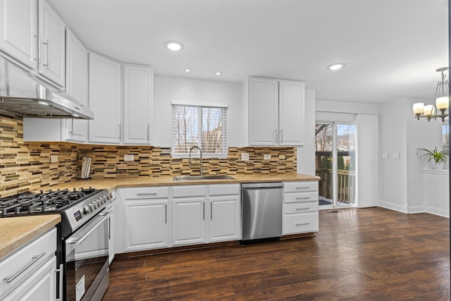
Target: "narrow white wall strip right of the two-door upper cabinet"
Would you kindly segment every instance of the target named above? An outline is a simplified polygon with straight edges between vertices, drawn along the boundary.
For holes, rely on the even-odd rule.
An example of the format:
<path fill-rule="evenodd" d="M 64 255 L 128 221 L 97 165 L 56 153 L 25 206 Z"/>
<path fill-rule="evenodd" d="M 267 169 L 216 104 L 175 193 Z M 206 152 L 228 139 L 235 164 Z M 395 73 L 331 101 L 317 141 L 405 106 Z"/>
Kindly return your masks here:
<path fill-rule="evenodd" d="M 315 171 L 315 90 L 305 90 L 305 145 L 297 148 L 297 172 L 314 176 Z"/>

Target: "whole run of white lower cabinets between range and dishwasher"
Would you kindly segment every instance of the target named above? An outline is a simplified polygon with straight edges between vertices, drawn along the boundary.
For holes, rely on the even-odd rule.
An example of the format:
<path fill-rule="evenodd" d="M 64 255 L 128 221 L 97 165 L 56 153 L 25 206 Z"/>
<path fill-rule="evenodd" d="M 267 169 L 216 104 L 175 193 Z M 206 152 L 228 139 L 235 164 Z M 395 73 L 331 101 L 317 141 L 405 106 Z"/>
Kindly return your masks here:
<path fill-rule="evenodd" d="M 117 191 L 117 253 L 241 238 L 240 184 Z"/>

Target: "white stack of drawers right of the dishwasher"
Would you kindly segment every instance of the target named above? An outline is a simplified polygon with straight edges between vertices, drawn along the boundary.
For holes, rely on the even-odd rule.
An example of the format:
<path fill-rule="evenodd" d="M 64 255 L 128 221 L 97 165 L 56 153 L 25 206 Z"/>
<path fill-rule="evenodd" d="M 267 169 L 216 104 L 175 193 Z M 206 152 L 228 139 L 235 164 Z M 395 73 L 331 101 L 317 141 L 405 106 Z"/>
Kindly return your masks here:
<path fill-rule="evenodd" d="M 283 235 L 319 231 L 318 182 L 283 183 Z"/>

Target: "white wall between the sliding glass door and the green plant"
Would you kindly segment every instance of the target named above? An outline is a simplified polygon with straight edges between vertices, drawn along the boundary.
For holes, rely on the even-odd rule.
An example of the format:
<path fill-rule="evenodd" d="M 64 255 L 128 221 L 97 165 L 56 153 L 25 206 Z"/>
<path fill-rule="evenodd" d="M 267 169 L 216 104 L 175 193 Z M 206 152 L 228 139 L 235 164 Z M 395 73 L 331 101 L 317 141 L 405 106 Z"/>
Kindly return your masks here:
<path fill-rule="evenodd" d="M 381 154 L 381 206 L 404 213 L 424 212 L 424 164 L 419 161 L 419 147 L 441 149 L 441 121 L 417 121 L 412 113 L 415 102 L 431 101 L 405 98 L 379 105 Z M 393 154 L 399 153 L 400 159 Z"/>

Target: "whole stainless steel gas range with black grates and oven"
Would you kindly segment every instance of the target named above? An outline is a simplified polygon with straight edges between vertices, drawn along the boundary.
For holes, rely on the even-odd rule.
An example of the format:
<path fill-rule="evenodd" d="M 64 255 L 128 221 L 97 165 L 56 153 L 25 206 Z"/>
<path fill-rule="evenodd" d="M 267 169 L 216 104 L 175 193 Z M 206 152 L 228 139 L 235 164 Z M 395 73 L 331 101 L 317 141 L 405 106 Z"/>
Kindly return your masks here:
<path fill-rule="evenodd" d="M 108 191 L 94 188 L 23 192 L 0 199 L 0 218 L 61 214 L 56 266 L 63 266 L 63 285 L 56 293 L 62 300 L 101 300 L 109 284 L 110 204 Z"/>

